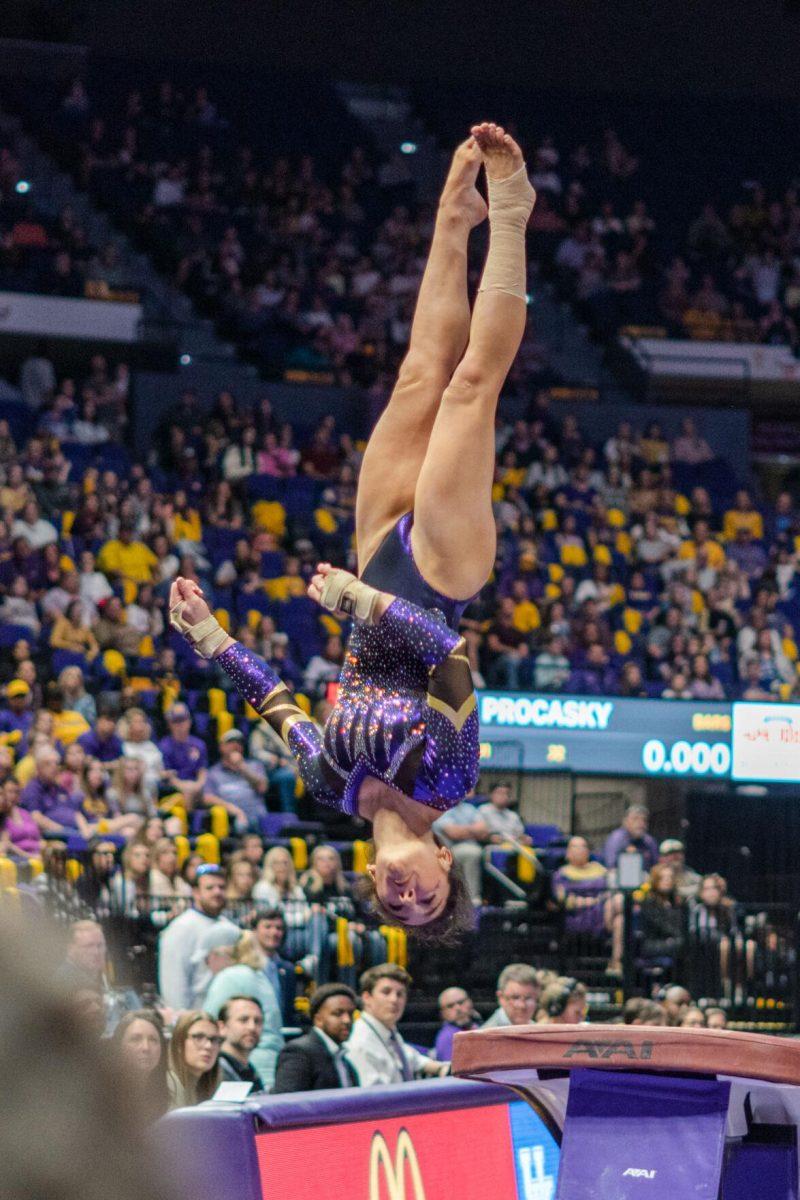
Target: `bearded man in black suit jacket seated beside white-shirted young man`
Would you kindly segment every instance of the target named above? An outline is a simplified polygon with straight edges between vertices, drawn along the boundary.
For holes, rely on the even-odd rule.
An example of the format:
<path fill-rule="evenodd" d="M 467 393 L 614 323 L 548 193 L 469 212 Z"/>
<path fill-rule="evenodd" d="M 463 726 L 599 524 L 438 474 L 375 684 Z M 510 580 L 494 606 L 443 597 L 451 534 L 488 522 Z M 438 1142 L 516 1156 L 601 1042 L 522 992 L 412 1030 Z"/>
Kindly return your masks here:
<path fill-rule="evenodd" d="M 326 983 L 317 989 L 308 1006 L 313 1028 L 288 1042 L 278 1055 L 273 1092 L 359 1086 L 359 1075 L 344 1045 L 353 1028 L 355 1006 L 355 992 L 342 983 Z"/>

